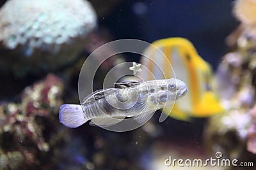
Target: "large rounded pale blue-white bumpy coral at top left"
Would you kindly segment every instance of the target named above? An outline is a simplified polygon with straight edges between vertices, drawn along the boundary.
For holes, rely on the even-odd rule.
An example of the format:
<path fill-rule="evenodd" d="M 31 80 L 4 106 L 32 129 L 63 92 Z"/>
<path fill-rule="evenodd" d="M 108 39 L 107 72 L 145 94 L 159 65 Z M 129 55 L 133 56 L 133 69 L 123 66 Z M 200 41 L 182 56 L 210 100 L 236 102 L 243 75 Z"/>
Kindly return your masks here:
<path fill-rule="evenodd" d="M 0 16 L 1 69 L 17 74 L 67 64 L 97 25 L 86 0 L 10 0 Z"/>

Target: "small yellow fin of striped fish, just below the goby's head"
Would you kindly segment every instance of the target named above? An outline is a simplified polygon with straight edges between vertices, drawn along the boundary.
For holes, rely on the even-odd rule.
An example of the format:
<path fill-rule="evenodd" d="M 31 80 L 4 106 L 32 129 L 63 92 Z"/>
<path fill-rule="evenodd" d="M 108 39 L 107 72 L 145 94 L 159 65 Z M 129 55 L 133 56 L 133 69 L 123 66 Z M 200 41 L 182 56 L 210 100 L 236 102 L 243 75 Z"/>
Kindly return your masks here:
<path fill-rule="evenodd" d="M 165 106 L 163 109 L 163 113 L 177 120 L 182 120 L 187 122 L 190 120 L 189 115 L 187 113 L 184 113 L 184 111 L 180 110 L 177 104 L 174 104 L 173 108 L 171 107 L 172 107 L 172 104 L 170 106 Z"/>

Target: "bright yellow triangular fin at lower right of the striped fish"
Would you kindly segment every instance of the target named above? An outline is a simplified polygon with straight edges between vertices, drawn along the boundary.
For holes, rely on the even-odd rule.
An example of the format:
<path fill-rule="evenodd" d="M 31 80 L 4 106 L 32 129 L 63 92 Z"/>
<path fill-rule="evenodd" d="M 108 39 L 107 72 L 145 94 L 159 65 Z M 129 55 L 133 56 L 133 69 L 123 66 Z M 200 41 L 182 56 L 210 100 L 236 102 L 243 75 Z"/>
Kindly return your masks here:
<path fill-rule="evenodd" d="M 201 102 L 196 104 L 193 117 L 209 117 L 218 113 L 223 113 L 223 108 L 218 101 L 216 95 L 211 91 L 206 91 L 201 99 Z"/>

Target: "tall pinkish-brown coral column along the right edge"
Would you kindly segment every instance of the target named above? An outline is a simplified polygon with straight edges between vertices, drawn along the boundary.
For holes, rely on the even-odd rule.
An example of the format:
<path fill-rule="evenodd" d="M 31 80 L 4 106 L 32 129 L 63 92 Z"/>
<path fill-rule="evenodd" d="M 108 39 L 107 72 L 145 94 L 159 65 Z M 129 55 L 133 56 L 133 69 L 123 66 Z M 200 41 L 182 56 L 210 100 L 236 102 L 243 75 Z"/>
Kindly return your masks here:
<path fill-rule="evenodd" d="M 253 16 L 256 13 L 253 9 L 256 1 L 238 0 L 234 6 L 243 26 L 232 40 L 236 42 L 229 43 L 234 49 L 223 56 L 215 76 L 225 113 L 209 120 L 205 140 L 212 153 L 221 152 L 225 158 L 255 164 L 256 20 Z"/>

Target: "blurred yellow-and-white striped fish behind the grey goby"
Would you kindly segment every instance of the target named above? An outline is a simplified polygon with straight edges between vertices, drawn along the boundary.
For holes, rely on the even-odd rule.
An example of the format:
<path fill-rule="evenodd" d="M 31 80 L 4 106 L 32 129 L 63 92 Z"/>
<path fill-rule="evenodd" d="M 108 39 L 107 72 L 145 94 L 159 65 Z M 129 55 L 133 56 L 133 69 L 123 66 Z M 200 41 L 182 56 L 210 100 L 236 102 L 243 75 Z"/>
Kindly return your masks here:
<path fill-rule="evenodd" d="M 149 46 L 143 52 L 147 57 L 141 57 L 140 62 L 152 74 L 144 69 L 138 76 L 144 81 L 176 76 L 189 89 L 188 94 L 174 104 L 171 114 L 172 106 L 164 108 L 164 113 L 179 120 L 189 120 L 191 117 L 208 117 L 223 112 L 218 97 L 212 91 L 212 68 L 198 55 L 188 39 L 166 38 L 154 41 L 152 45 L 159 50 Z"/>

